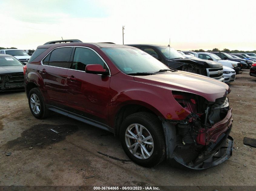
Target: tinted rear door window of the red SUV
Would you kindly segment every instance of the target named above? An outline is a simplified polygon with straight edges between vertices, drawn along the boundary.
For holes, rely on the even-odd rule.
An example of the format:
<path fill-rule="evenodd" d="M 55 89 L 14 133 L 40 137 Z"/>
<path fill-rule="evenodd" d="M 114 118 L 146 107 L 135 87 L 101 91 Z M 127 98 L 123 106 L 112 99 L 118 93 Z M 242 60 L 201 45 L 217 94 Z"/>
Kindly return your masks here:
<path fill-rule="evenodd" d="M 57 48 L 43 60 L 44 65 L 69 68 L 71 47 Z"/>

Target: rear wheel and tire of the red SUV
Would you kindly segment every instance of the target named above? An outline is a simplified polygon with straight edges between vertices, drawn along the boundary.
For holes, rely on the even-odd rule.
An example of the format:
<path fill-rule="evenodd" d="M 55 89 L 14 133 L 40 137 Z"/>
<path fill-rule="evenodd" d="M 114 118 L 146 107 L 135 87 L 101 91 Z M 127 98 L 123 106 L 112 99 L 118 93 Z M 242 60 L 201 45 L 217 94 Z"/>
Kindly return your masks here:
<path fill-rule="evenodd" d="M 48 116 L 49 110 L 45 106 L 44 98 L 39 88 L 32 88 L 28 94 L 29 109 L 35 118 L 43 119 Z"/>

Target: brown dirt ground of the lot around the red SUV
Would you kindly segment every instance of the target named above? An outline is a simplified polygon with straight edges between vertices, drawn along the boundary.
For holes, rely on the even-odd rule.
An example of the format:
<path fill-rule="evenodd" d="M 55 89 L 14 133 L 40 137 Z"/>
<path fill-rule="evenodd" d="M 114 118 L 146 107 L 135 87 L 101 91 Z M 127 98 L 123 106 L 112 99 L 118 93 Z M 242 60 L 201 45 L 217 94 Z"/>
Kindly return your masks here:
<path fill-rule="evenodd" d="M 228 96 L 234 118 L 233 155 L 199 171 L 171 167 L 167 161 L 154 168 L 138 166 L 113 134 L 56 113 L 36 119 L 24 91 L 0 92 L 0 185 L 255 186 L 256 148 L 244 146 L 243 138 L 256 138 L 256 78 L 248 69 L 243 71 L 230 84 Z"/>

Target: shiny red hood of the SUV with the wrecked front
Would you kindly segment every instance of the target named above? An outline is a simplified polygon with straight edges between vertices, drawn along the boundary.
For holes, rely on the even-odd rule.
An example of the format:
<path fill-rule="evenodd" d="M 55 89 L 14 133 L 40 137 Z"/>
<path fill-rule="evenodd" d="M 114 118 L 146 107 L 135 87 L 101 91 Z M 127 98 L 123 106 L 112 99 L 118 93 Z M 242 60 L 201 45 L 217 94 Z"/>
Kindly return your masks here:
<path fill-rule="evenodd" d="M 230 89 L 227 84 L 190 72 L 164 72 L 156 75 L 134 76 L 135 81 L 198 94 L 208 101 L 226 96 Z"/>

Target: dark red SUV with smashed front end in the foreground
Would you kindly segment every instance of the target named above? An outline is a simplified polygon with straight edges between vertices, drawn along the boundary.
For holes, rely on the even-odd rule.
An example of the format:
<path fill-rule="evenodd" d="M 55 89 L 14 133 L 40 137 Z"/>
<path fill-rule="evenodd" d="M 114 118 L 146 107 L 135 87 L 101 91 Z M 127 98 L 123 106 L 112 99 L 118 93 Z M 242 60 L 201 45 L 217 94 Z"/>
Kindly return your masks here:
<path fill-rule="evenodd" d="M 25 88 L 36 118 L 54 111 L 113 132 L 141 166 L 171 159 L 205 169 L 232 155 L 228 85 L 168 68 L 135 47 L 45 43 L 28 61 Z"/>

